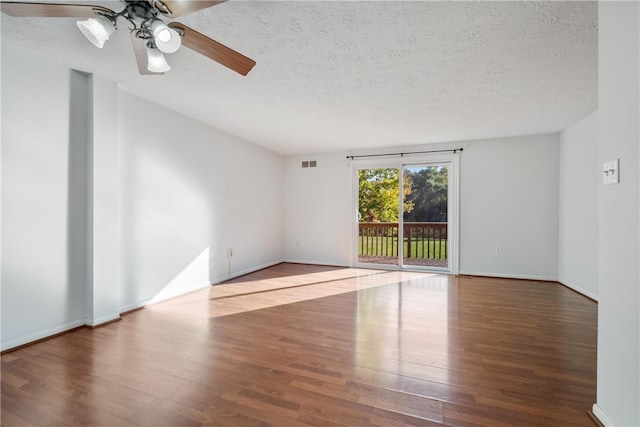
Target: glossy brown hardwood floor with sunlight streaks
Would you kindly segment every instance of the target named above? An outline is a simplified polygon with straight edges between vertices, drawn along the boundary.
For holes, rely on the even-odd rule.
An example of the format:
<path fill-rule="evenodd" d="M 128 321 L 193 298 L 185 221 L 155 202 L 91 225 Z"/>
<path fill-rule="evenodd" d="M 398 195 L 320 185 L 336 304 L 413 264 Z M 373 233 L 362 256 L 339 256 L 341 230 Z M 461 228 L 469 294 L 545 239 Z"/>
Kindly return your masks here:
<path fill-rule="evenodd" d="M 3 426 L 593 426 L 559 284 L 281 264 L 2 355 Z"/>

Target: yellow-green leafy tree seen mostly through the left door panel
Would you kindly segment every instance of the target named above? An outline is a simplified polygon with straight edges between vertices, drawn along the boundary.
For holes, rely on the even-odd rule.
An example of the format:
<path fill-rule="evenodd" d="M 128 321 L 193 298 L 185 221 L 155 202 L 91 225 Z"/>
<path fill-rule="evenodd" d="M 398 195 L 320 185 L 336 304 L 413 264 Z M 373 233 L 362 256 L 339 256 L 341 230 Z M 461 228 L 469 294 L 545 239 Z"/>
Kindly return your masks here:
<path fill-rule="evenodd" d="M 358 171 L 358 195 L 360 222 L 398 222 L 399 170 L 360 169 Z M 405 212 L 413 210 L 413 202 L 407 200 L 412 192 L 411 177 L 405 174 L 403 195 Z"/>

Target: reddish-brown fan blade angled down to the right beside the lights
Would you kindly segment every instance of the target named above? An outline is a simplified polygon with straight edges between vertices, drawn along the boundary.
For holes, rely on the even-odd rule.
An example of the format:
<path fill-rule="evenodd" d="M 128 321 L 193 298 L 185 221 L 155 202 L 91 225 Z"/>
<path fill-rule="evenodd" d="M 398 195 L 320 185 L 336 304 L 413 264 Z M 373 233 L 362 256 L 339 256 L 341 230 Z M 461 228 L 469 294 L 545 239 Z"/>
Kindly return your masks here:
<path fill-rule="evenodd" d="M 238 53 L 215 40 L 211 40 L 204 34 L 201 34 L 184 24 L 171 22 L 169 27 L 176 28 L 182 32 L 182 44 L 184 46 L 219 62 L 236 73 L 246 76 L 253 66 L 256 65 L 256 61 L 253 59 L 247 58 L 243 54 Z"/>

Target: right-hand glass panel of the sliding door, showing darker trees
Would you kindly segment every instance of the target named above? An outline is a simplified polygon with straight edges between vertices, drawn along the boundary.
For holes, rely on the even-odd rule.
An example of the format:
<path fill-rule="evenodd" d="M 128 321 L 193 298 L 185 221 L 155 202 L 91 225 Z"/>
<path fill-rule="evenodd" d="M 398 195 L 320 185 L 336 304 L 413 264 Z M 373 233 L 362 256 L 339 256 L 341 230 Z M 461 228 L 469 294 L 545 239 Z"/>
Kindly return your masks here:
<path fill-rule="evenodd" d="M 402 265 L 448 268 L 448 167 L 411 165 L 403 172 Z"/>

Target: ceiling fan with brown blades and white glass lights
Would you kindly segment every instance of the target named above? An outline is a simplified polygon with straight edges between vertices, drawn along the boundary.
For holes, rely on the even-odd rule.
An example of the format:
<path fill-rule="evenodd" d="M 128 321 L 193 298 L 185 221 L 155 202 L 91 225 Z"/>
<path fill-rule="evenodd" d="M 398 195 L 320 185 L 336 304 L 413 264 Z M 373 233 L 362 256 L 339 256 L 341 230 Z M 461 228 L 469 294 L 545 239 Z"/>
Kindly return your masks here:
<path fill-rule="evenodd" d="M 99 48 L 118 28 L 123 18 L 131 27 L 131 42 L 140 74 L 164 74 L 170 70 L 164 54 L 181 45 L 246 76 L 256 62 L 179 22 L 165 23 L 160 17 L 176 18 L 223 3 L 226 0 L 122 0 L 120 12 L 103 6 L 0 1 L 2 12 L 16 17 L 88 18 L 78 28 Z"/>

